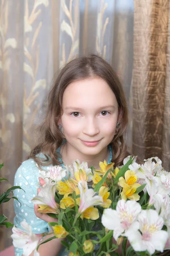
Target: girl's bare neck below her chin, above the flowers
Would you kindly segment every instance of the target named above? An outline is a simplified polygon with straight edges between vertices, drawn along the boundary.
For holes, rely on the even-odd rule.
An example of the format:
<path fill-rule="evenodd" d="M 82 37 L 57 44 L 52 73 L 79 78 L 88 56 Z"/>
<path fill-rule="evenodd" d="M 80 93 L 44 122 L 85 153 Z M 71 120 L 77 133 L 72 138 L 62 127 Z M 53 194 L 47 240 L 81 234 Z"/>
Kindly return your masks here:
<path fill-rule="evenodd" d="M 99 161 L 104 162 L 104 160 L 108 161 L 109 159 L 108 147 L 103 148 L 103 150 L 97 155 L 85 155 L 66 143 L 62 151 L 62 161 L 67 165 L 72 165 L 72 162 L 77 159 L 80 161 L 80 163 L 83 161 L 87 162 L 89 168 L 94 166 L 94 169 L 100 169 Z"/>

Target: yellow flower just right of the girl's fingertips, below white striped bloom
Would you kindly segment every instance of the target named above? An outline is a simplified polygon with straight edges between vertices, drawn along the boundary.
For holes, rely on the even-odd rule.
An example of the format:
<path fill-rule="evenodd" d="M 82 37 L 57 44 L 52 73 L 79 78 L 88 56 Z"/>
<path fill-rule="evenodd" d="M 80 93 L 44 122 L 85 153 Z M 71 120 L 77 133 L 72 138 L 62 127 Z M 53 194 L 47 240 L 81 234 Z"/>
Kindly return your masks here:
<path fill-rule="evenodd" d="M 72 194 L 76 187 L 78 185 L 78 182 L 76 180 L 59 180 L 56 184 L 56 189 L 58 190 L 59 195 L 69 195 Z"/>

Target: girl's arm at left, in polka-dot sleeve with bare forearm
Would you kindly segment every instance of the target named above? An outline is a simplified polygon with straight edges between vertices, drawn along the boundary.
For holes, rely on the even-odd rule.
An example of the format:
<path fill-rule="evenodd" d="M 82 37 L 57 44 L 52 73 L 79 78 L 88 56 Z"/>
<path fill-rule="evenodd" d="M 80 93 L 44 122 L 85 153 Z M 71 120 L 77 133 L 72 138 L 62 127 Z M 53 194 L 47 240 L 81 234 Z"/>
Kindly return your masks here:
<path fill-rule="evenodd" d="M 14 200 L 14 225 L 23 230 L 20 223 L 25 219 L 25 221 L 31 226 L 33 233 L 42 234 L 49 233 L 51 228 L 47 221 L 42 220 L 40 216 L 37 216 L 34 213 L 34 204 L 32 203 L 31 199 L 37 195 L 37 188 L 39 187 L 37 186 L 39 182 L 38 177 L 39 169 L 37 166 L 35 166 L 34 161 L 31 159 L 24 162 L 17 170 L 14 178 L 14 186 L 21 186 L 25 192 L 22 189 L 14 190 L 14 196 L 17 197 L 21 203 L 20 207 L 20 203 L 17 200 Z M 46 239 L 47 236 L 44 238 L 44 240 Z M 40 256 L 57 256 L 61 246 L 62 244 L 60 243 L 59 239 L 53 239 L 48 243 L 42 244 L 39 248 Z M 15 245 L 15 256 L 22 255 L 23 249 L 17 248 Z M 34 255 L 34 252 L 31 255 Z"/>

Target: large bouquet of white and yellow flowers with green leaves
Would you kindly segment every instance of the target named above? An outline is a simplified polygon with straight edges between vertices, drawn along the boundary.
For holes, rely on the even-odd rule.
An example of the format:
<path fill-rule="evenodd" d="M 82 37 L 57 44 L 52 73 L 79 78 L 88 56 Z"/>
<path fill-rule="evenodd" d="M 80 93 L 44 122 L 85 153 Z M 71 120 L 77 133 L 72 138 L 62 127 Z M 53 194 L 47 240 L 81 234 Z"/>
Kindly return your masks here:
<path fill-rule="evenodd" d="M 140 165 L 128 156 L 119 168 L 106 161 L 99 166 L 76 160 L 73 168 L 40 172 L 45 184 L 32 201 L 58 219 L 49 223 L 54 236 L 43 243 L 65 238 L 69 256 L 119 255 L 120 249 L 122 256 L 147 256 L 170 249 L 170 173 L 161 160 L 151 157 Z M 31 250 L 40 246 L 35 236 L 40 241 L 34 234 Z"/>

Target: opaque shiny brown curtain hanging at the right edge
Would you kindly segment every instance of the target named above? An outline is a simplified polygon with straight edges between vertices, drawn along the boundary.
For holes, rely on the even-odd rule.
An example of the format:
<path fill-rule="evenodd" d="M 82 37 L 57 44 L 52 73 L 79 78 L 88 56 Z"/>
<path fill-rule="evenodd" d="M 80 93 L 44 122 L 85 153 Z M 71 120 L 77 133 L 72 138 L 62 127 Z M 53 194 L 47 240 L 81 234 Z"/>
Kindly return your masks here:
<path fill-rule="evenodd" d="M 134 1 L 133 153 L 170 171 L 170 0 Z"/>

